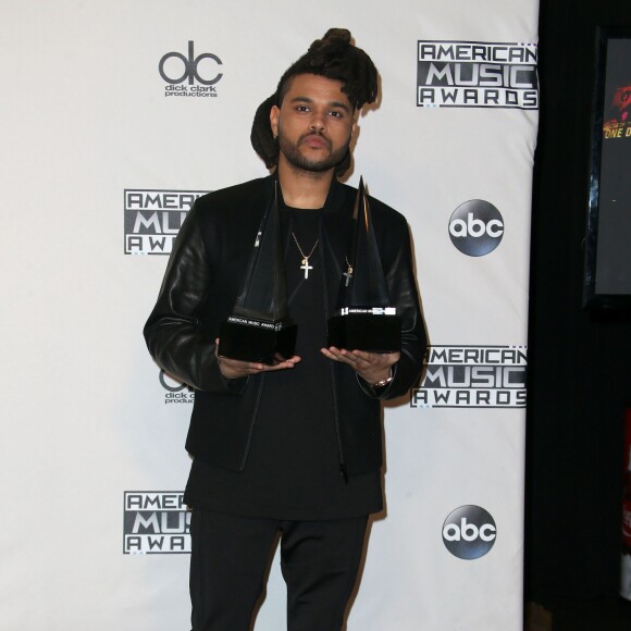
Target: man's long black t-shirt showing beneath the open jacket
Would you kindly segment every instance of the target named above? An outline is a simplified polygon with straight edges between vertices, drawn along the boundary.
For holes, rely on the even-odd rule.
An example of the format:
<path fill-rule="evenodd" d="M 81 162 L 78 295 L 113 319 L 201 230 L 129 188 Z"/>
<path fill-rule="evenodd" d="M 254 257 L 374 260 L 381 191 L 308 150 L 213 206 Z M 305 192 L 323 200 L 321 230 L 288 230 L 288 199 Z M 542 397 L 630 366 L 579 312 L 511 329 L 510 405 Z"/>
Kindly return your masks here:
<path fill-rule="evenodd" d="M 382 508 L 379 470 L 347 481 L 339 471 L 332 371 L 320 351 L 326 344 L 322 248 L 317 244 L 321 212 L 282 210 L 282 221 L 290 226 L 285 244 L 287 294 L 301 361 L 294 369 L 264 374 L 243 471 L 193 462 L 185 495 L 190 506 L 296 520 L 344 519 Z M 309 257 L 308 277 L 293 235 Z"/>

